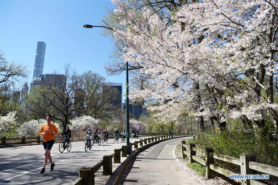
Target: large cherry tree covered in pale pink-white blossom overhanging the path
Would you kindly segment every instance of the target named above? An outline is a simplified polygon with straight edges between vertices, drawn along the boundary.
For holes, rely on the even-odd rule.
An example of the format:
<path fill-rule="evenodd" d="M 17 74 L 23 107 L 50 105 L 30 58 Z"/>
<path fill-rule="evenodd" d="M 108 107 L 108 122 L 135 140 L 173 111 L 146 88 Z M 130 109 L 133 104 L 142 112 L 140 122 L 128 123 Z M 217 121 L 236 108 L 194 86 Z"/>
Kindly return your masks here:
<path fill-rule="evenodd" d="M 121 59 L 139 64 L 145 78 L 131 98 L 148 100 L 167 122 L 194 115 L 200 128 L 211 118 L 221 128 L 230 118 L 263 127 L 267 112 L 278 134 L 276 1 L 192 1 L 171 14 L 172 24 L 113 2 L 121 25 L 114 36 L 126 43 Z"/>

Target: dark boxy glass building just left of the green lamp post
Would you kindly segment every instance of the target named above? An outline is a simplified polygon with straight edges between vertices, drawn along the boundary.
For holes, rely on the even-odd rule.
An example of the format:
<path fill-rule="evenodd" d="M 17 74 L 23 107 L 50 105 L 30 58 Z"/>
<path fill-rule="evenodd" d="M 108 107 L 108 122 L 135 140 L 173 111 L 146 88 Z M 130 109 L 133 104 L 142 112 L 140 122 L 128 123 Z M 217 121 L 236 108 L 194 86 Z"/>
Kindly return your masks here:
<path fill-rule="evenodd" d="M 103 94 L 113 94 L 110 103 L 113 106 L 122 106 L 123 101 L 123 84 L 122 83 L 104 83 L 103 84 Z"/>

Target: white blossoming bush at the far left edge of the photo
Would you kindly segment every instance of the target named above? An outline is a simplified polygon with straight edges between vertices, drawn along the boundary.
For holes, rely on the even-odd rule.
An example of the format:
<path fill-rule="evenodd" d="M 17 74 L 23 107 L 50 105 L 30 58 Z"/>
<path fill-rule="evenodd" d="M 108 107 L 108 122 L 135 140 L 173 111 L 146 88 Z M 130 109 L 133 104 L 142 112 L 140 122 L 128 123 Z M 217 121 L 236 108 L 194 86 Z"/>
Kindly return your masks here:
<path fill-rule="evenodd" d="M 16 111 L 9 112 L 6 116 L 0 115 L 0 137 L 4 136 L 6 132 L 10 132 L 15 129 L 18 125 L 15 121 L 16 118 Z"/>

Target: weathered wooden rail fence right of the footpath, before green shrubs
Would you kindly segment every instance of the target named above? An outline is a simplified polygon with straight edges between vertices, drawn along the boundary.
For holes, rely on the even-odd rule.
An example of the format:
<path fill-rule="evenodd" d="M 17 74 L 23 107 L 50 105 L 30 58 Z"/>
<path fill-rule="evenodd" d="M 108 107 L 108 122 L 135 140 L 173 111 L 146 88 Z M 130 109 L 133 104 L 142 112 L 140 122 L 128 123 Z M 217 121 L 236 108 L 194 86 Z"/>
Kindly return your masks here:
<path fill-rule="evenodd" d="M 240 174 L 241 175 L 255 175 L 256 171 L 274 175 L 278 177 L 278 167 L 262 164 L 259 162 L 256 162 L 256 156 L 255 154 L 240 154 L 240 158 L 234 158 L 227 155 L 221 155 L 214 153 L 212 148 L 206 148 L 205 150 L 197 148 L 194 143 L 186 143 L 185 141 L 181 142 L 181 153 L 183 159 L 188 157 L 189 162 L 199 162 L 203 166 L 206 167 L 206 178 L 207 179 L 213 179 L 215 176 L 215 172 L 218 172 L 222 175 L 225 175 L 226 177 L 229 177 L 229 175 L 239 175 L 237 173 L 234 173 L 232 171 L 226 170 L 224 168 L 218 167 L 214 164 L 214 159 L 218 159 L 221 161 L 229 162 L 235 165 L 240 166 Z M 203 158 L 200 158 L 196 156 L 197 154 L 201 154 L 202 156 L 205 156 L 205 160 Z M 261 183 L 256 180 L 249 180 L 249 179 L 234 179 L 235 181 L 247 184 L 247 185 L 263 185 L 264 183 Z"/>

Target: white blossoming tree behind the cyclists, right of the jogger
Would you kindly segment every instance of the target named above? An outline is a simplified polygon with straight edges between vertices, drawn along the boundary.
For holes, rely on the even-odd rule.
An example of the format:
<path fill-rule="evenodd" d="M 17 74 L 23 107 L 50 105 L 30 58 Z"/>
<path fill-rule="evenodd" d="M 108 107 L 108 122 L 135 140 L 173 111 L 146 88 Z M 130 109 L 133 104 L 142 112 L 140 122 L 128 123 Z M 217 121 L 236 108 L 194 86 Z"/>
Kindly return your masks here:
<path fill-rule="evenodd" d="M 91 116 L 81 116 L 81 117 L 75 117 L 74 119 L 70 120 L 70 127 L 73 131 L 85 131 L 87 128 L 93 129 L 99 129 L 100 123 L 98 119 L 95 119 Z"/>

